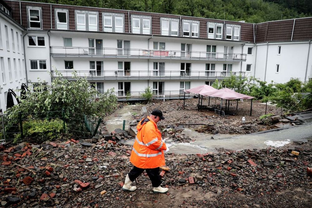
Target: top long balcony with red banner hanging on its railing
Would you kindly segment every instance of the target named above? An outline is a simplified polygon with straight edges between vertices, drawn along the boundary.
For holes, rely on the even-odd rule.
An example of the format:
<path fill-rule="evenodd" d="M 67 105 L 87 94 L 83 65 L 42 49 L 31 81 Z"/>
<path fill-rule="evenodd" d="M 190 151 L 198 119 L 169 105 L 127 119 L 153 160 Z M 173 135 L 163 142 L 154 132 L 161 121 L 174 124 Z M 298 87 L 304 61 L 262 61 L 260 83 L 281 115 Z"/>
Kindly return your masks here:
<path fill-rule="evenodd" d="M 201 51 L 165 51 L 165 50 L 122 49 L 122 48 L 50 46 L 50 54 L 51 56 L 59 56 L 59 57 L 246 61 L 246 54 L 237 54 L 237 53 L 214 53 Z"/>

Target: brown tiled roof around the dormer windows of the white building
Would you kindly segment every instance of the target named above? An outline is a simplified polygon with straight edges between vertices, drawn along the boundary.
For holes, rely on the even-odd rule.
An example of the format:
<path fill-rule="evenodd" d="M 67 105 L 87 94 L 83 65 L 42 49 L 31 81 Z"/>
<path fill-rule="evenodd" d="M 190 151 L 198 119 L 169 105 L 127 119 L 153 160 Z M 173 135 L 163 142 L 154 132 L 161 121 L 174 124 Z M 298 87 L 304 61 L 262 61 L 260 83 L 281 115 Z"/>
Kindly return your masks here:
<path fill-rule="evenodd" d="M 244 22 L 233 22 L 214 20 L 208 18 L 199 17 L 186 17 L 170 14 L 159 14 L 149 12 L 136 12 L 127 10 L 117 9 L 106 9 L 106 8 L 94 8 L 94 7 L 80 7 L 80 6 L 69 6 L 69 5 L 58 5 L 58 4 L 45 4 L 36 2 L 24 2 L 24 1 L 11 1 L 5 0 L 7 4 L 12 8 L 13 18 L 20 22 L 20 3 L 22 13 L 22 26 L 27 28 L 27 12 L 26 6 L 37 6 L 42 7 L 42 18 L 43 18 L 43 29 L 55 29 L 55 8 L 66 8 L 69 10 L 69 29 L 75 30 L 75 10 L 84 11 L 96 11 L 99 12 L 99 30 L 102 31 L 102 12 L 113 12 L 124 14 L 124 30 L 125 33 L 129 33 L 129 15 L 146 15 L 152 17 L 152 34 L 160 35 L 160 17 L 168 18 L 181 18 L 187 20 L 195 20 L 200 22 L 200 38 L 207 38 L 207 22 L 220 22 L 226 24 L 235 24 L 241 26 L 241 41 L 254 42 L 254 36 L 256 37 L 256 43 L 259 42 L 272 42 L 272 41 L 290 41 L 293 30 L 294 20 L 283 20 L 283 21 L 272 21 L 264 22 L 260 24 L 244 23 Z M 52 19 L 52 22 L 51 22 Z M 311 40 L 312 39 L 312 17 L 296 19 L 294 28 L 293 40 Z M 51 27 L 52 25 L 52 27 Z M 180 26 L 181 27 L 181 26 Z M 255 34 L 254 34 L 255 27 Z"/>

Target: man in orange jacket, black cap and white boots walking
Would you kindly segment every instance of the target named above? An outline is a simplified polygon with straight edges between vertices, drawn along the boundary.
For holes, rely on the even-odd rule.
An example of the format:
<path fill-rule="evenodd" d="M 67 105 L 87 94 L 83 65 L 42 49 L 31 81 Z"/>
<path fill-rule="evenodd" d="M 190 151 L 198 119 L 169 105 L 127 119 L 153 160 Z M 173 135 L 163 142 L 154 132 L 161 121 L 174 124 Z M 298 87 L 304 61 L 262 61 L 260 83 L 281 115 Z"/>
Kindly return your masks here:
<path fill-rule="evenodd" d="M 167 193 L 168 188 L 160 186 L 159 167 L 165 165 L 164 150 L 166 144 L 162 141 L 161 133 L 156 123 L 164 120 L 163 113 L 155 109 L 151 115 L 142 119 L 137 126 L 137 136 L 134 141 L 130 156 L 133 169 L 127 174 L 122 189 L 124 191 L 134 191 L 135 186 L 131 186 L 132 181 L 139 177 L 145 170 L 152 181 L 154 193 Z"/>

